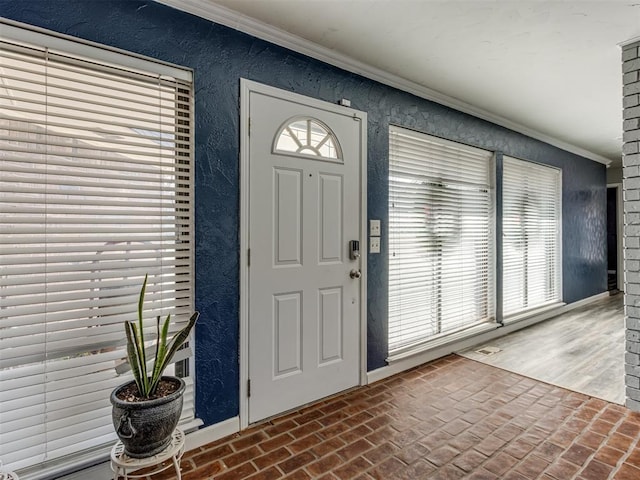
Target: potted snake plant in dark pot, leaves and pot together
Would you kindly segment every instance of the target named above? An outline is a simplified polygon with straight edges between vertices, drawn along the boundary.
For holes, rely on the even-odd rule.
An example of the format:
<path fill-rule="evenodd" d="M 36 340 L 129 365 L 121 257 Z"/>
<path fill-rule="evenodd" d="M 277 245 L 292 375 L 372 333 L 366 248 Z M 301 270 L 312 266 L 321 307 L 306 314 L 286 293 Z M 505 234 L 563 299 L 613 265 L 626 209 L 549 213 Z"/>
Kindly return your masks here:
<path fill-rule="evenodd" d="M 179 377 L 163 376 L 164 370 L 198 320 L 191 315 L 187 325 L 169 337 L 171 315 L 164 322 L 156 319 L 155 354 L 153 361 L 145 351 L 143 306 L 147 276 L 138 298 L 137 321 L 124 324 L 127 336 L 127 357 L 134 380 L 111 392 L 113 426 L 124 445 L 124 452 L 132 458 L 146 458 L 164 450 L 182 413 L 185 383 Z"/>

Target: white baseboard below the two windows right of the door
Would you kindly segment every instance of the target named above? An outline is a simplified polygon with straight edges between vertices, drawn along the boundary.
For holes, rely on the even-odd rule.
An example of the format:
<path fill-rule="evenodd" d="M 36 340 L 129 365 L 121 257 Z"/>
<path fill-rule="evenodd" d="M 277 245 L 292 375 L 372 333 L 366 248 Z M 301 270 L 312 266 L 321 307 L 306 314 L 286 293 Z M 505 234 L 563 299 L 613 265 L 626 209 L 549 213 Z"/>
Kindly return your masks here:
<path fill-rule="evenodd" d="M 371 384 L 383 380 L 385 378 L 391 377 L 392 375 L 396 375 L 397 373 L 404 372 L 405 370 L 409 370 L 424 363 L 431 362 L 451 353 L 460 352 L 475 345 L 479 345 L 490 340 L 502 337 L 509 333 L 521 330 L 523 328 L 530 327 L 531 325 L 535 325 L 536 323 L 543 322 L 544 320 L 548 320 L 563 313 L 567 313 L 575 308 L 588 305 L 608 296 L 609 292 L 603 292 L 588 298 L 583 298 L 582 300 L 578 300 L 577 302 L 559 306 L 552 310 L 545 310 L 538 313 L 533 312 L 527 317 L 518 318 L 517 320 L 511 320 L 510 323 L 507 323 L 502 327 L 496 327 L 488 332 L 453 341 L 448 344 L 439 345 L 429 350 L 417 352 L 415 355 L 404 357 L 400 360 L 390 363 L 387 366 L 367 372 L 367 381 L 369 384 Z"/>

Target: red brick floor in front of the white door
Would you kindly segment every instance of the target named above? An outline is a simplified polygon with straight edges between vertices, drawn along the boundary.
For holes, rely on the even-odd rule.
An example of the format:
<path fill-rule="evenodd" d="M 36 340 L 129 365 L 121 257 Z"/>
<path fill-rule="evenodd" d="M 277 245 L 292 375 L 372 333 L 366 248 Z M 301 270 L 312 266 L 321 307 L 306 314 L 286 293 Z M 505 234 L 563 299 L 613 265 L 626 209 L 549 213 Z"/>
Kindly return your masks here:
<path fill-rule="evenodd" d="M 187 452 L 182 478 L 640 480 L 639 439 L 638 413 L 451 355 Z"/>

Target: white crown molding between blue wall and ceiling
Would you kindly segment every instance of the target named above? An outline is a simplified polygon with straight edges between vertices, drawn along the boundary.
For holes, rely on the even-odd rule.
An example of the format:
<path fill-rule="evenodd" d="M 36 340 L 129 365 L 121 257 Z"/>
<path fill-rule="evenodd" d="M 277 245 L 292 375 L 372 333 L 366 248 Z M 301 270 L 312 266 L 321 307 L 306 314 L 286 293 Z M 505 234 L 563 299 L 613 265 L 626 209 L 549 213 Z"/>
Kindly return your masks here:
<path fill-rule="evenodd" d="M 428 87 L 412 82 L 398 75 L 386 72 L 373 67 L 359 60 L 355 60 L 347 55 L 340 54 L 334 50 L 322 47 L 316 43 L 306 40 L 297 35 L 293 35 L 282 29 L 260 22 L 247 15 L 235 12 L 221 5 L 213 3 L 211 0 L 156 0 L 159 3 L 168 5 L 178 10 L 191 13 L 198 17 L 211 20 L 214 23 L 238 30 L 252 35 L 261 40 L 279 45 L 295 52 L 307 55 L 321 62 L 328 63 L 351 73 L 362 75 L 370 80 L 383 83 L 390 87 L 411 93 L 418 97 L 430 100 L 446 107 L 453 108 L 460 112 L 473 115 L 474 117 L 487 120 L 488 122 L 500 125 L 523 135 L 535 138 L 548 143 L 562 150 L 566 150 L 581 157 L 588 158 L 604 165 L 609 165 L 611 159 L 598 155 L 577 145 L 551 137 L 545 133 L 538 132 L 519 123 L 513 122 L 500 115 L 493 114 L 484 109 L 475 107 L 469 103 L 462 102 L 456 98 L 444 95 Z"/>

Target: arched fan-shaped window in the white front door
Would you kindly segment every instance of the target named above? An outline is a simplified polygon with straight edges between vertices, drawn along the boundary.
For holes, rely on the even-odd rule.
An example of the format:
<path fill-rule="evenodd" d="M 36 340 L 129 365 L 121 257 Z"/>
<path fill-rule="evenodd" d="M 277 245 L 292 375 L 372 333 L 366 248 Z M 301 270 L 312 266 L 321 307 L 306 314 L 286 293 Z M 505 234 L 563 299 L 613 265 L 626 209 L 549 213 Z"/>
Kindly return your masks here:
<path fill-rule="evenodd" d="M 335 134 L 314 118 L 287 120 L 278 130 L 274 152 L 342 162 L 342 152 Z"/>

